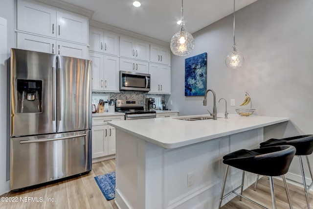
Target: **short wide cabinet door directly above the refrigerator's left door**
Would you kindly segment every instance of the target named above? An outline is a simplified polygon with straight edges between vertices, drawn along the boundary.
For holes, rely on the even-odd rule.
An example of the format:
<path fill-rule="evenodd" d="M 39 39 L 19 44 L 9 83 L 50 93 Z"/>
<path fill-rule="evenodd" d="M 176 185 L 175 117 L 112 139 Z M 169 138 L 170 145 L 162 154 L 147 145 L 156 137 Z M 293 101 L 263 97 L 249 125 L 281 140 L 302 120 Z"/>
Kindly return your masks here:
<path fill-rule="evenodd" d="M 45 53 L 56 53 L 56 41 L 54 39 L 34 36 L 25 33 L 17 33 L 17 47 L 25 50 Z"/>

